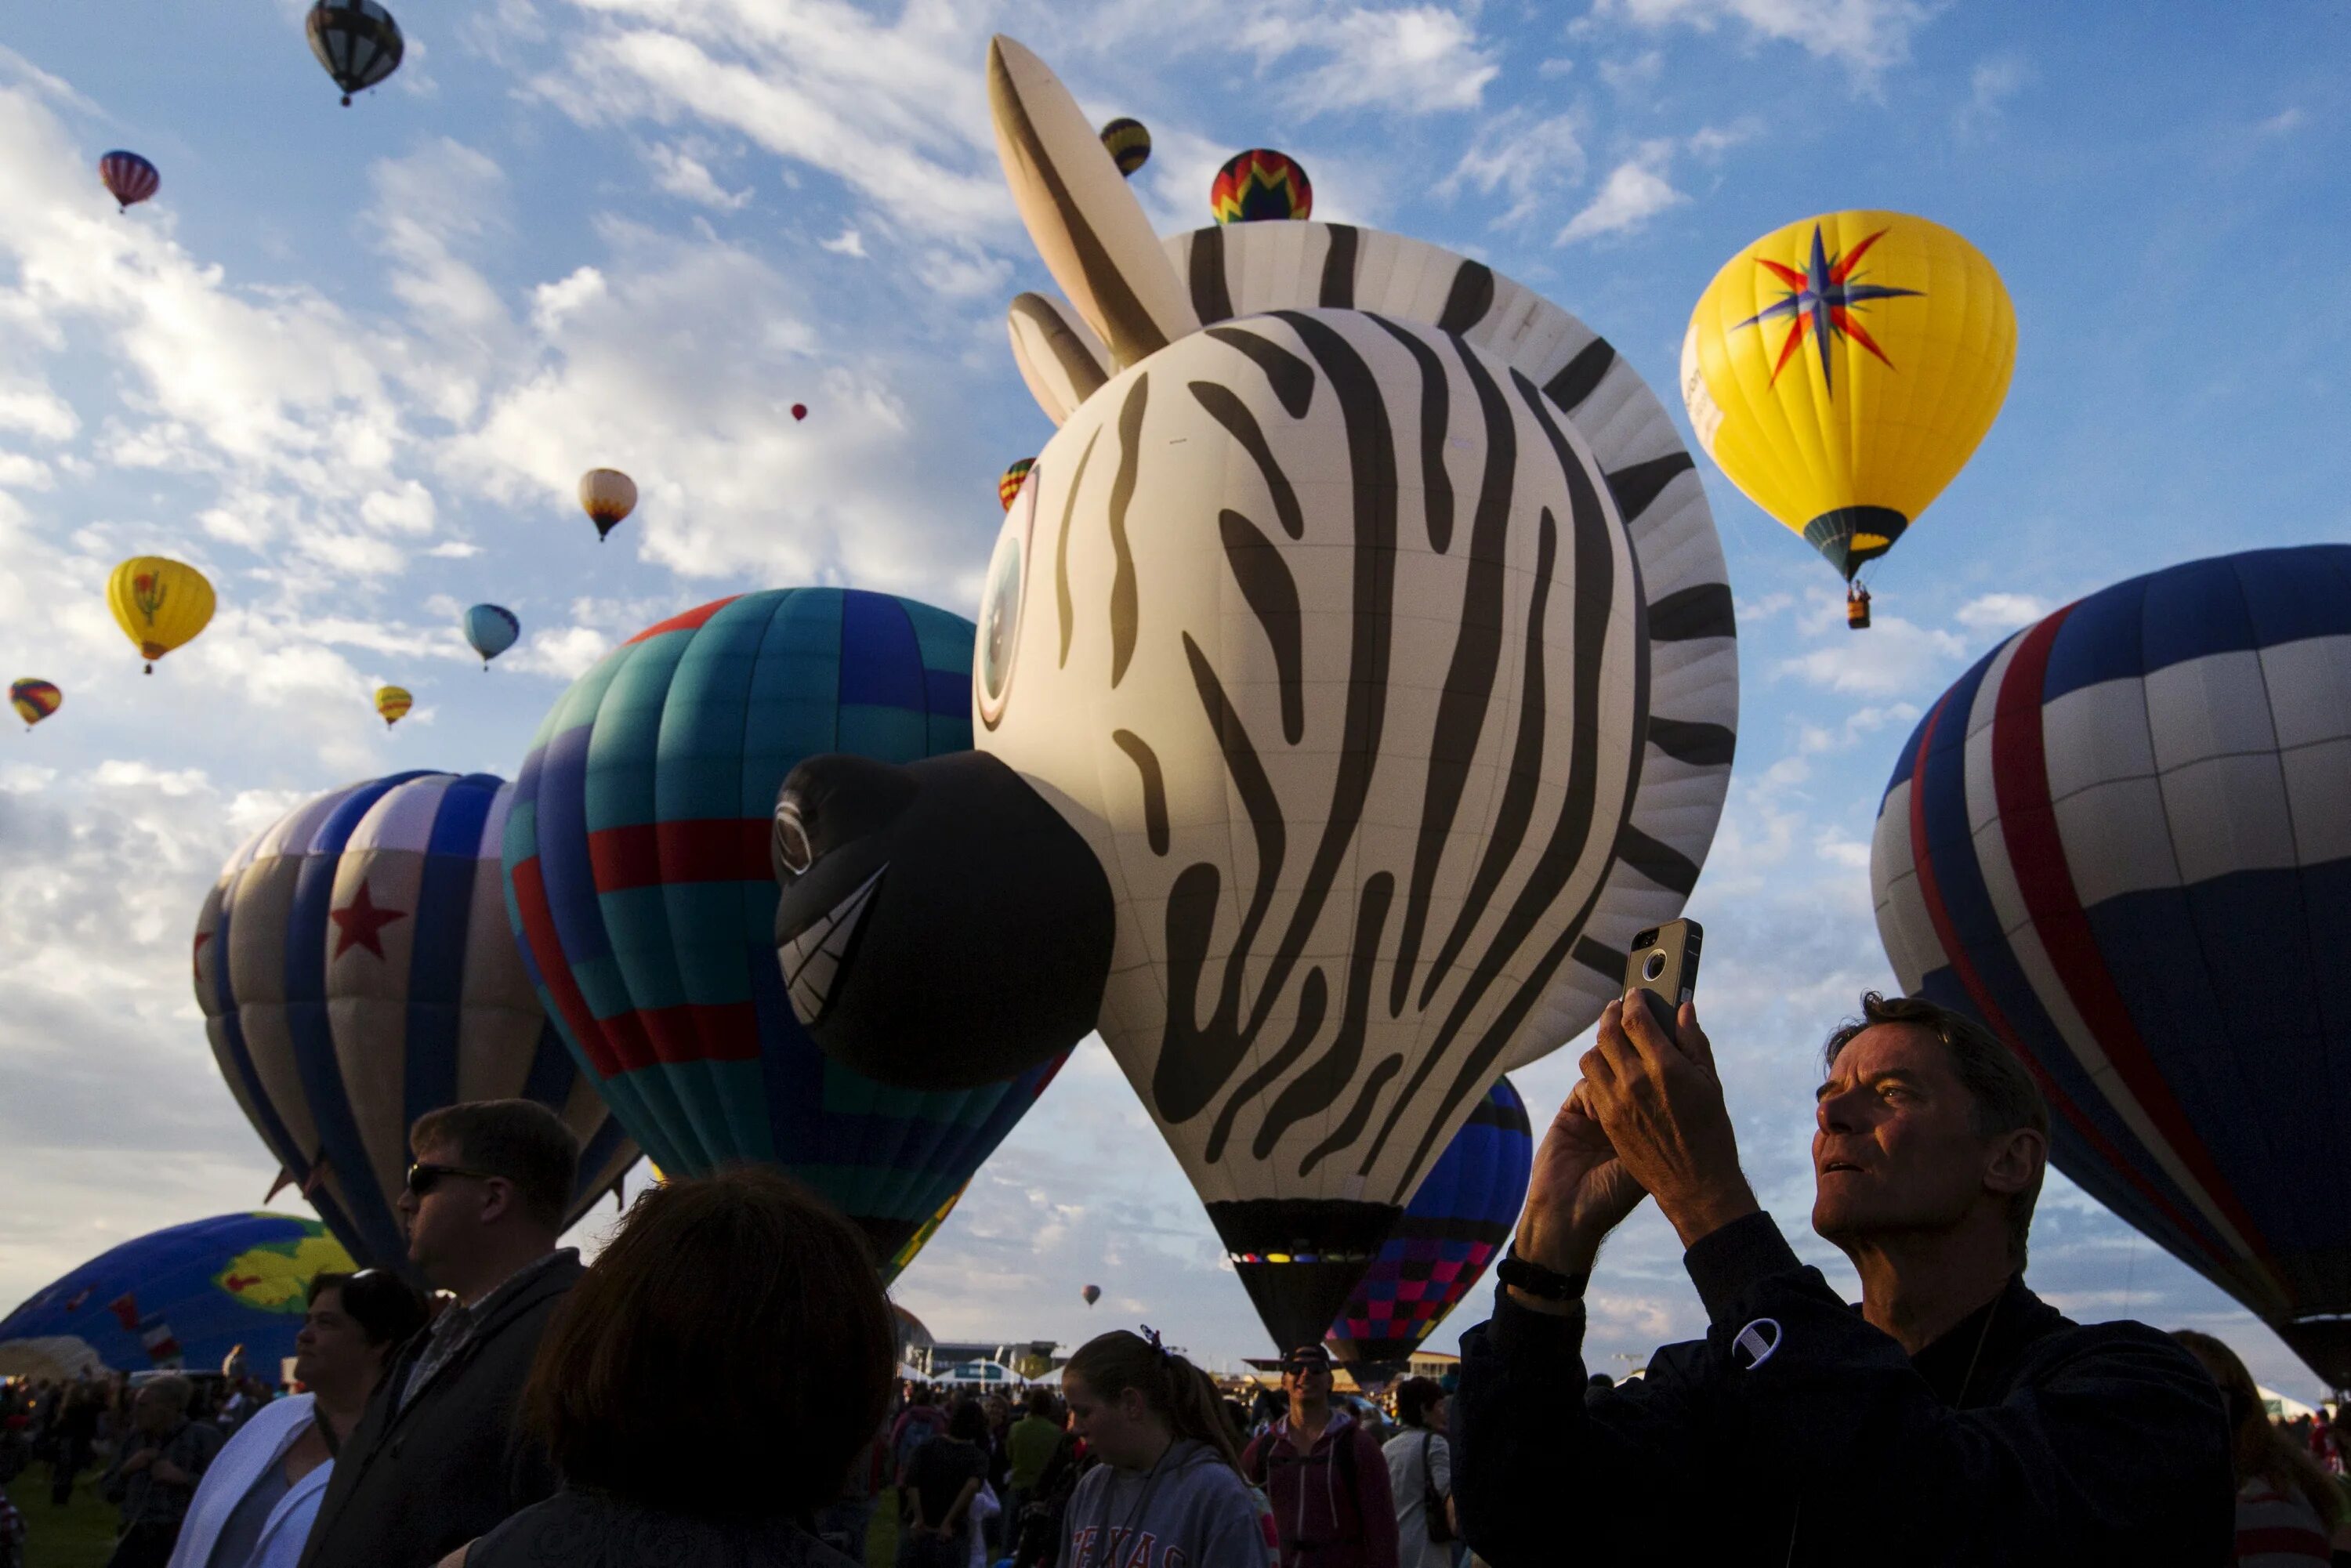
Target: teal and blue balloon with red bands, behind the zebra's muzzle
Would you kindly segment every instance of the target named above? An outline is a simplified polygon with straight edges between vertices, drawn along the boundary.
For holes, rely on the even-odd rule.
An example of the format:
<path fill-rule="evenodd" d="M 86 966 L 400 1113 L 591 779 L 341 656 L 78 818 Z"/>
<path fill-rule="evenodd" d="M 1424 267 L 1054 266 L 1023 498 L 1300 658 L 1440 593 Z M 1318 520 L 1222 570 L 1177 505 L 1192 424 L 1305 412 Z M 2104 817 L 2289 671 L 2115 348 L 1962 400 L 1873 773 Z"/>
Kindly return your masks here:
<path fill-rule="evenodd" d="M 973 637 L 959 616 L 837 588 L 663 621 L 555 703 L 505 825 L 538 992 L 654 1161 L 781 1166 L 868 1232 L 884 1274 L 1060 1063 L 950 1093 L 830 1063 L 776 966 L 769 832 L 802 757 L 969 750 Z"/>

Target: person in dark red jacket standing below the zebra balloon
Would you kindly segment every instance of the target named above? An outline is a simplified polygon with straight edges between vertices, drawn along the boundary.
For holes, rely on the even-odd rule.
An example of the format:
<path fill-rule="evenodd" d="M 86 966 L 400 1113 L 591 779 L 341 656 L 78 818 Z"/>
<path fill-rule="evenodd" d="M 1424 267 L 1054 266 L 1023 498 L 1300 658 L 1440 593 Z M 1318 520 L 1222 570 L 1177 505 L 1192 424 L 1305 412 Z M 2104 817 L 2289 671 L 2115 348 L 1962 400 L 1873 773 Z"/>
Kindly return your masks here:
<path fill-rule="evenodd" d="M 1241 1474 L 1274 1505 L 1281 1568 L 1396 1568 L 1387 1458 L 1354 1415 L 1331 1408 L 1331 1352 L 1293 1349 L 1281 1392 L 1288 1415 L 1241 1455 Z"/>

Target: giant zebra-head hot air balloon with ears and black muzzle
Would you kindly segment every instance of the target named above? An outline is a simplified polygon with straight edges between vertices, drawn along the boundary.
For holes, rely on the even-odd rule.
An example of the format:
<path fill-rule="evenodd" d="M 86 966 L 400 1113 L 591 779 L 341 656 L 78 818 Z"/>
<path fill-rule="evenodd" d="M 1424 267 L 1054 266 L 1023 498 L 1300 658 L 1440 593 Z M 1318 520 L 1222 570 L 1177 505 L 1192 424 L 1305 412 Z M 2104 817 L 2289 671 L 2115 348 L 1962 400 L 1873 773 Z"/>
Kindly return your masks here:
<path fill-rule="evenodd" d="M 1100 1027 L 1274 1342 L 1314 1342 L 1493 1079 L 1697 879 L 1721 548 L 1566 310 L 1373 230 L 1161 242 L 1034 54 L 997 40 L 990 96 L 1077 301 L 1013 306 L 1063 425 L 985 576 L 978 750 L 788 780 L 778 954 L 886 1081 Z"/>

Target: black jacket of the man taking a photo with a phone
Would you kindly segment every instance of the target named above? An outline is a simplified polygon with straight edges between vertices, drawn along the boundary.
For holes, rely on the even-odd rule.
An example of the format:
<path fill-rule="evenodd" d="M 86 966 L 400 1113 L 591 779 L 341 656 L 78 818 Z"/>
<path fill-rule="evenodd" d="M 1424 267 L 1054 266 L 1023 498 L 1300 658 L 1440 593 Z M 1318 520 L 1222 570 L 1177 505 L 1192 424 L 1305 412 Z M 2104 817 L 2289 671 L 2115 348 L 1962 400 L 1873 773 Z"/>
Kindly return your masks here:
<path fill-rule="evenodd" d="M 1683 1258 L 1704 1340 L 1585 1389 L 1582 1312 L 1502 1293 L 1462 1335 L 1453 1497 L 1495 1568 L 2231 1561 L 2212 1378 L 2144 1324 L 2008 1291 L 1916 1356 L 1770 1215 Z"/>

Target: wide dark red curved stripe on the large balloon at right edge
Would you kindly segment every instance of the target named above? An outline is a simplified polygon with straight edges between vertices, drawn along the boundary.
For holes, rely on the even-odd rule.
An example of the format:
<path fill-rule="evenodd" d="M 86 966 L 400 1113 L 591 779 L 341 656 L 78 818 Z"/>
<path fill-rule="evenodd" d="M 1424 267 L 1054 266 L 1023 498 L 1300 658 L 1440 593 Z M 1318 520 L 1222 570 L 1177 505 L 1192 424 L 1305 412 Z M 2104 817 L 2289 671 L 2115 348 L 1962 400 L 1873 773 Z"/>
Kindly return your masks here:
<path fill-rule="evenodd" d="M 2090 1027 L 2104 1048 L 2106 1060 L 2123 1084 L 2139 1100 L 2139 1110 L 2156 1124 L 2165 1143 L 2182 1164 L 2203 1182 L 2212 1204 L 2229 1215 L 2238 1234 L 2245 1237 L 2255 1255 L 2271 1260 L 2269 1244 L 2255 1227 L 2252 1215 L 2238 1201 L 2229 1180 L 2212 1164 L 2212 1152 L 2196 1135 L 2186 1110 L 2163 1081 L 2156 1058 L 2139 1037 L 2139 1025 L 2130 1018 L 2123 990 L 2106 969 L 2106 954 L 2090 931 L 2090 914 L 2081 907 L 2081 889 L 2074 886 L 2074 870 L 2064 858 L 2064 839 L 2057 832 L 2057 806 L 2050 799 L 2048 745 L 2041 731 L 2041 689 L 2048 677 L 2050 646 L 2057 628 L 2064 625 L 2071 607 L 2041 621 L 2017 644 L 2008 663 L 1991 710 L 1991 790 L 1998 799 L 2001 837 L 2008 844 L 2008 865 L 2024 896 L 2034 933 L 2050 954 L 2050 969 L 2064 985 L 2074 1011 Z"/>

